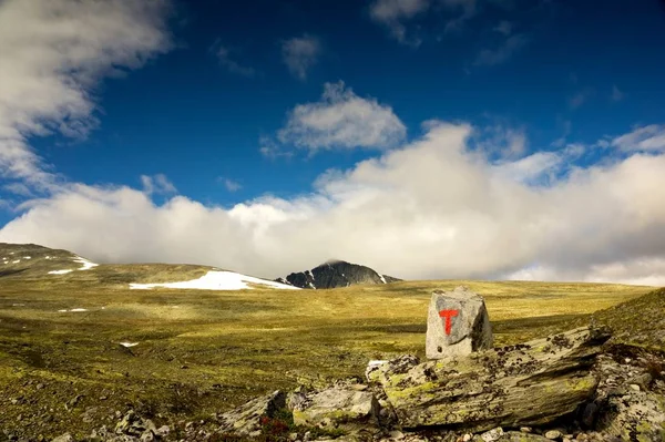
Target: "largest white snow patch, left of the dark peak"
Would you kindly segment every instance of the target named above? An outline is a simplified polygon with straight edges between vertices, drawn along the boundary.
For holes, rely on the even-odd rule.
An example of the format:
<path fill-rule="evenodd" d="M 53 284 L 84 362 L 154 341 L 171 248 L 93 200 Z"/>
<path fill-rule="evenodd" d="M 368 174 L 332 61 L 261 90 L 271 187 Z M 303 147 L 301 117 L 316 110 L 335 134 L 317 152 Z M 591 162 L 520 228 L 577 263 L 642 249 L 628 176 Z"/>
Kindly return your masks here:
<path fill-rule="evenodd" d="M 242 290 L 249 289 L 247 284 L 259 284 L 273 288 L 299 290 L 299 287 L 288 286 L 286 284 L 269 281 L 266 279 L 254 278 L 252 276 L 241 275 L 233 271 L 208 271 L 198 279 L 180 282 L 157 282 L 157 284 L 130 284 L 131 289 L 151 289 L 154 287 L 165 288 L 190 288 L 200 290 Z"/>

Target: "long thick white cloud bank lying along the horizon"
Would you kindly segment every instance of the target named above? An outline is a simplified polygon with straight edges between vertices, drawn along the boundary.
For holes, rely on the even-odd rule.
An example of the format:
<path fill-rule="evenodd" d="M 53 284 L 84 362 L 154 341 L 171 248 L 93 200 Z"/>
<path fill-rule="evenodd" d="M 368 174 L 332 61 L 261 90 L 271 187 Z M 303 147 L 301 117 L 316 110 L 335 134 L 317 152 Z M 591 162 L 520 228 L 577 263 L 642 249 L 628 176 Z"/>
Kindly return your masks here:
<path fill-rule="evenodd" d="M 470 125 L 427 127 L 401 148 L 326 173 L 309 195 L 224 209 L 76 185 L 31 202 L 0 241 L 68 248 L 95 261 L 202 263 L 263 277 L 335 256 L 405 278 L 665 284 L 665 155 L 634 153 L 533 186 L 531 177 L 561 166 L 553 154 L 498 166 L 470 151 Z"/>

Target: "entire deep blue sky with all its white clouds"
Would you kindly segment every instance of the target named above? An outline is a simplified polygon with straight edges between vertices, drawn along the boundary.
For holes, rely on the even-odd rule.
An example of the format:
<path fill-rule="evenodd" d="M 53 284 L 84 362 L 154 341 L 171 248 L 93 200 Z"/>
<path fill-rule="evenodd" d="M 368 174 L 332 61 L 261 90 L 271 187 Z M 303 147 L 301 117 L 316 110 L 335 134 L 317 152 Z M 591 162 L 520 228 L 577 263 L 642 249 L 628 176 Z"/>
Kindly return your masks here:
<path fill-rule="evenodd" d="M 661 0 L 0 0 L 0 241 L 665 286 Z"/>

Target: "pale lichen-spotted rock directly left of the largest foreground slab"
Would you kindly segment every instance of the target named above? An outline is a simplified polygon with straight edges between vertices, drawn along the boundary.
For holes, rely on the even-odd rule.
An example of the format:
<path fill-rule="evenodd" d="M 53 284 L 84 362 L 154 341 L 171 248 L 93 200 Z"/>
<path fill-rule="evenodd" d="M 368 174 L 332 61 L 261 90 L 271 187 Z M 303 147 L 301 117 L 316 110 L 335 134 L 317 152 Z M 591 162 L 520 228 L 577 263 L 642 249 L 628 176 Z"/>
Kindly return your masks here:
<path fill-rule="evenodd" d="M 379 402 L 374 393 L 351 386 L 335 386 L 308 393 L 295 405 L 296 425 L 358 429 L 379 424 Z"/>

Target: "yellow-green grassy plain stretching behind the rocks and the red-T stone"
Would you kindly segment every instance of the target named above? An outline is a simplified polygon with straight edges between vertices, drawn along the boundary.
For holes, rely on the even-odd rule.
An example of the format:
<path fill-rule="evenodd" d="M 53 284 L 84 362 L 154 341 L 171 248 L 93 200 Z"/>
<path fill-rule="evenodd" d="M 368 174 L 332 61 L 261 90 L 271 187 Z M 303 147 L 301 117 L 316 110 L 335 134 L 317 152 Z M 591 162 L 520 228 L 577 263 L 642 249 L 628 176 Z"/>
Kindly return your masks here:
<path fill-rule="evenodd" d="M 49 275 L 31 266 L 0 277 L 0 430 L 31 438 L 89 434 L 129 408 L 157 422 L 205 420 L 276 389 L 362 376 L 370 359 L 422 357 L 433 289 L 466 285 L 483 296 L 495 346 L 569 329 L 653 290 L 462 280 L 132 290 L 129 282 L 194 279 L 208 268 L 101 265 Z M 59 311 L 71 309 L 86 311 Z"/>

